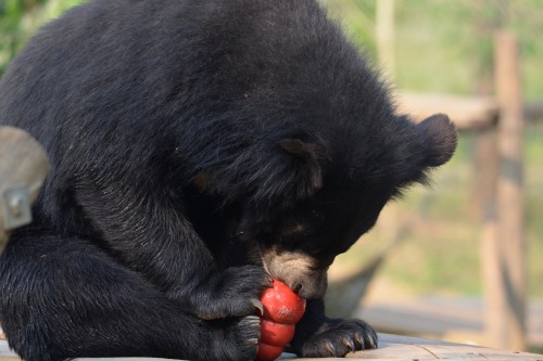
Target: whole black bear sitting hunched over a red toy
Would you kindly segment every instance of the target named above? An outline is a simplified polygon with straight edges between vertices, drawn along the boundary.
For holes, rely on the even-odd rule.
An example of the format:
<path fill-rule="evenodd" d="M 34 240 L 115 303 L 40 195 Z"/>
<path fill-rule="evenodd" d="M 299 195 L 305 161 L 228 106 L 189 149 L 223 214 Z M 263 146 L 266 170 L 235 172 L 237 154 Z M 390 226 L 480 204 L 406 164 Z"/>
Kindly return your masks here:
<path fill-rule="evenodd" d="M 52 171 L 0 261 L 0 317 L 27 361 L 250 360 L 270 278 L 307 298 L 290 347 L 374 348 L 329 319 L 334 257 L 444 164 L 314 0 L 91 0 L 45 26 L 0 85 L 0 124 Z"/>

